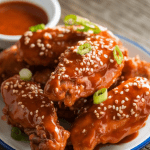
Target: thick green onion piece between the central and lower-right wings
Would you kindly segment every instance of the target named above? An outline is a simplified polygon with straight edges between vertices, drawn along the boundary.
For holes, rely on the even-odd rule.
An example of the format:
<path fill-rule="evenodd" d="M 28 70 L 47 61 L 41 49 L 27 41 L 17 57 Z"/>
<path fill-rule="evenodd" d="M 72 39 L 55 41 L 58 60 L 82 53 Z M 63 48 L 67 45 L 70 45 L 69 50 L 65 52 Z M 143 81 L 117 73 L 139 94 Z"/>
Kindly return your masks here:
<path fill-rule="evenodd" d="M 94 104 L 100 104 L 100 103 L 104 102 L 107 99 L 107 95 L 108 94 L 107 94 L 106 88 L 98 90 L 93 95 L 93 103 Z"/>

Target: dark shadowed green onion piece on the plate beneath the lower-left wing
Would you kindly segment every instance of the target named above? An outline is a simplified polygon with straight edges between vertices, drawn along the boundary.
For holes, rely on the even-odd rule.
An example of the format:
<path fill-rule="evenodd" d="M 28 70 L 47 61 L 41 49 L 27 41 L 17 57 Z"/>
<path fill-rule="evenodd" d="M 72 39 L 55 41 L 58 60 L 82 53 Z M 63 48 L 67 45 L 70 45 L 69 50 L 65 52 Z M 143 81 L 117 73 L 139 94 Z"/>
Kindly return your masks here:
<path fill-rule="evenodd" d="M 26 134 L 22 133 L 21 130 L 17 127 L 12 127 L 11 137 L 17 141 L 29 141 L 29 137 Z"/>

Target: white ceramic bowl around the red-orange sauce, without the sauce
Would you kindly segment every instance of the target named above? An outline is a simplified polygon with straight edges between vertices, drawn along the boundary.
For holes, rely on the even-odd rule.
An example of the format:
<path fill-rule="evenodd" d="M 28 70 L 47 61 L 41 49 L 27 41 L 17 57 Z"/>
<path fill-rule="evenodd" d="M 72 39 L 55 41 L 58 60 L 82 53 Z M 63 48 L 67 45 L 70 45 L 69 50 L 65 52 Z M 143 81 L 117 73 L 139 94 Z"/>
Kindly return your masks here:
<path fill-rule="evenodd" d="M 14 0 L 0 0 L 0 3 L 8 1 L 10 2 Z M 15 0 L 15 1 L 26 1 L 41 7 L 48 16 L 49 21 L 46 24 L 46 27 L 54 27 L 60 19 L 61 8 L 58 0 Z M 21 35 L 9 36 L 0 34 L 0 48 L 2 49 L 8 48 L 14 43 L 16 43 L 20 38 Z"/>

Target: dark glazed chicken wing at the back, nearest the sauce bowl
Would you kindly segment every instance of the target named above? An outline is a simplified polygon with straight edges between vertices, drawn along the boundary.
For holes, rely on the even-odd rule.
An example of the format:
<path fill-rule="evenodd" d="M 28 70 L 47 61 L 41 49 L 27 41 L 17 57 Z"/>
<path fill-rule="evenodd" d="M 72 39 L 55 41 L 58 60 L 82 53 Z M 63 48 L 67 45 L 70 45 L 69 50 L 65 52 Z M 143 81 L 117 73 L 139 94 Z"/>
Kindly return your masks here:
<path fill-rule="evenodd" d="M 54 65 L 68 46 L 85 39 L 86 35 L 77 32 L 76 26 L 57 26 L 37 32 L 27 31 L 18 44 L 20 56 L 29 65 Z"/>

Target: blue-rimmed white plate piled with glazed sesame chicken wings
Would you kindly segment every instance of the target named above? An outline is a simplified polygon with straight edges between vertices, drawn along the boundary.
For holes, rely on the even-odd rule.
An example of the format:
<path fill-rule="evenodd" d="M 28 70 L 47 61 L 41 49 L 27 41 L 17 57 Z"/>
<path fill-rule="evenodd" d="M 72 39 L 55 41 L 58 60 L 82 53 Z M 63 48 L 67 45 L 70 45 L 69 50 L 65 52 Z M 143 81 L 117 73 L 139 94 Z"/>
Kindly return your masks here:
<path fill-rule="evenodd" d="M 141 149 L 150 142 L 150 52 L 87 19 L 68 18 L 68 25 L 25 32 L 0 53 L 0 144 Z"/>

